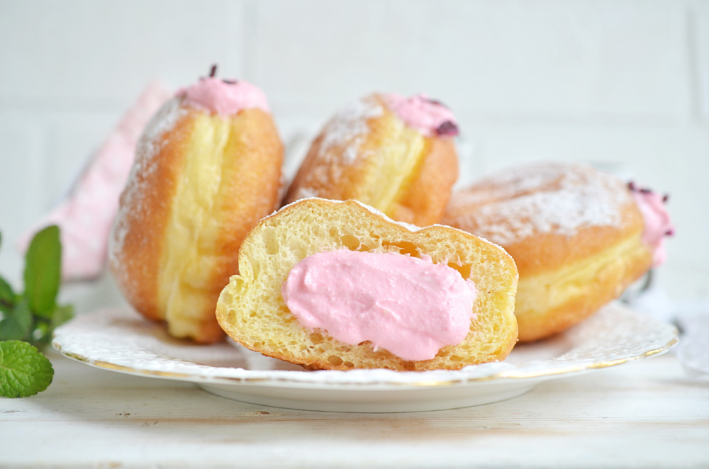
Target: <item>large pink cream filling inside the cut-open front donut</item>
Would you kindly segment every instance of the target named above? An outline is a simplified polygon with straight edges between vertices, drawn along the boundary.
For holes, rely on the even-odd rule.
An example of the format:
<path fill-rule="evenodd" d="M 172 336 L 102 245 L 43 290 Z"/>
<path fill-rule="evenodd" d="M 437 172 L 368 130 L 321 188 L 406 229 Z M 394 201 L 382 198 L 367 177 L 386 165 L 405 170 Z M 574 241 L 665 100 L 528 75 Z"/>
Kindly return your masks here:
<path fill-rule="evenodd" d="M 428 256 L 340 249 L 298 262 L 281 294 L 305 327 L 419 361 L 467 337 L 477 291 Z"/>

